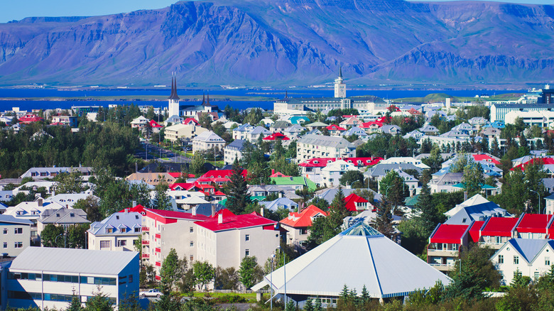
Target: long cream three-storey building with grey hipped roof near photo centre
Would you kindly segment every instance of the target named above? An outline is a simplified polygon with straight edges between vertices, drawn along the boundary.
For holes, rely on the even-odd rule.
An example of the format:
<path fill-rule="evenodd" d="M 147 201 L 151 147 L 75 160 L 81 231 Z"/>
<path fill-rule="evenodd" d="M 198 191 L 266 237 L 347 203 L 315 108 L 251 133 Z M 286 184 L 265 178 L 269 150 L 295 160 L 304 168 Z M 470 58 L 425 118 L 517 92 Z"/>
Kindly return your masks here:
<path fill-rule="evenodd" d="M 305 135 L 297 142 L 298 162 L 311 158 L 348 158 L 356 156 L 356 147 L 342 137 Z"/>

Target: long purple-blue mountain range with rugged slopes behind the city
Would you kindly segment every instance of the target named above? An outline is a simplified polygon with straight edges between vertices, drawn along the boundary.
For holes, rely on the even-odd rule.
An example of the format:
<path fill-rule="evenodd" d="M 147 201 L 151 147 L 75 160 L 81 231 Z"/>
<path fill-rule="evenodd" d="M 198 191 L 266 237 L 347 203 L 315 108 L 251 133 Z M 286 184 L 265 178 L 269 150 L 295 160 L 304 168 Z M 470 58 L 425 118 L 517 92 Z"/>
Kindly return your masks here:
<path fill-rule="evenodd" d="M 182 1 L 0 24 L 0 84 L 306 85 L 554 80 L 554 6 Z"/>

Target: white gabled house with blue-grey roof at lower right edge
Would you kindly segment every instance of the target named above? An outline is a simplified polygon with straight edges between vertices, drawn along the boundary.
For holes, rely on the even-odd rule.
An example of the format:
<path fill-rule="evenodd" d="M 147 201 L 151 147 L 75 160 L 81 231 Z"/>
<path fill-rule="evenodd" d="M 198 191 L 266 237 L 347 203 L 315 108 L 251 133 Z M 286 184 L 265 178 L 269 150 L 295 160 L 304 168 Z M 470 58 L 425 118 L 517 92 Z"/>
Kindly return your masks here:
<path fill-rule="evenodd" d="M 554 263 L 554 240 L 509 239 L 494 253 L 491 261 L 502 275 L 501 285 L 509 285 L 516 273 L 537 280 Z"/>

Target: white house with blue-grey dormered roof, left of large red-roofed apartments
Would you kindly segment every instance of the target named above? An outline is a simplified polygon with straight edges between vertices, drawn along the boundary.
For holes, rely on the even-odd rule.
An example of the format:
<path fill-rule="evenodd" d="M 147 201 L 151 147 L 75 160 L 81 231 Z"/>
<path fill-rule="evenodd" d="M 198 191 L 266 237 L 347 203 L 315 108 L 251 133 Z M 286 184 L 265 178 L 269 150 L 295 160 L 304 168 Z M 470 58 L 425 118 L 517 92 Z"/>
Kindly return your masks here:
<path fill-rule="evenodd" d="M 99 251 L 134 251 L 142 235 L 142 215 L 139 212 L 115 212 L 101 222 L 93 222 L 87 230 L 88 249 Z M 142 244 L 149 244 L 143 240 Z"/>

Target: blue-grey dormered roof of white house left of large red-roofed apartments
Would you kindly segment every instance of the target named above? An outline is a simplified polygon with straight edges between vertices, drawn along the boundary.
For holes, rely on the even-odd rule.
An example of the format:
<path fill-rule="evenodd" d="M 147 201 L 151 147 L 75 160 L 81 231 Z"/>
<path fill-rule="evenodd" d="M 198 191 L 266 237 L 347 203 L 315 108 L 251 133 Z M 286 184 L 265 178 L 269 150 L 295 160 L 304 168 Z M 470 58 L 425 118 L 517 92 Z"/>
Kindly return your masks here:
<path fill-rule="evenodd" d="M 121 226 L 128 228 L 122 232 Z M 106 217 L 102 222 L 93 222 L 88 231 L 95 236 L 106 235 L 106 228 L 117 229 L 108 235 L 136 235 L 133 228 L 142 227 L 142 215 L 139 212 L 116 212 Z"/>

